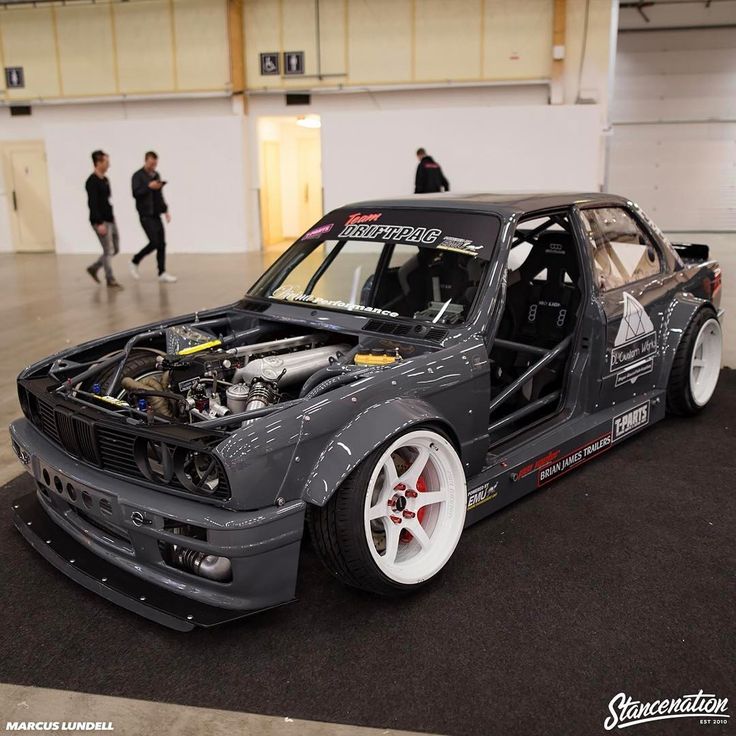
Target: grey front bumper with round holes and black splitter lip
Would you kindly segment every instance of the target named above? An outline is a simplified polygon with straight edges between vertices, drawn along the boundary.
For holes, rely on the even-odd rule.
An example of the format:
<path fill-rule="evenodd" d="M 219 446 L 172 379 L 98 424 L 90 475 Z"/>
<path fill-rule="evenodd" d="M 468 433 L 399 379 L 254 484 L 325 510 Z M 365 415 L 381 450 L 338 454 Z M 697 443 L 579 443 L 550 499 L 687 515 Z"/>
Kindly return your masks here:
<path fill-rule="evenodd" d="M 186 631 L 214 626 L 294 598 L 305 504 L 229 511 L 141 487 L 70 457 L 30 422 L 10 426 L 37 490 L 14 502 L 14 523 L 49 562 L 128 610 Z M 205 539 L 171 529 L 188 525 Z M 167 564 L 177 544 L 227 557 L 218 582 Z"/>

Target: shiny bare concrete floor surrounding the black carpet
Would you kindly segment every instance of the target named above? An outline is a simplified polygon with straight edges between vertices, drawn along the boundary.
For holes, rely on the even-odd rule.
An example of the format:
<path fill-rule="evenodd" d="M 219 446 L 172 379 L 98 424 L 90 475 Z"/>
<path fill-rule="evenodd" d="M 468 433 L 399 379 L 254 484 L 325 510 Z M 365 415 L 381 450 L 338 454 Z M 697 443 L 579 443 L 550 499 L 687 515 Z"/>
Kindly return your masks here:
<path fill-rule="evenodd" d="M 671 234 L 678 242 L 702 242 L 723 267 L 722 306 L 736 309 L 736 234 Z M 149 259 L 143 278 L 133 281 L 127 257 L 116 259 L 123 291 L 97 285 L 85 273 L 90 256 L 0 255 L 0 485 L 18 465 L 8 440 L 8 423 L 18 415 L 15 376 L 27 364 L 67 345 L 163 317 L 235 301 L 278 255 L 181 255 L 171 257 L 179 282 L 159 284 Z M 724 364 L 736 366 L 736 331 L 727 319 Z M 10 720 L 110 721 L 117 734 L 324 734 L 348 736 L 396 731 L 312 724 L 288 718 L 210 711 L 39 688 L 0 685 L 0 722 Z"/>

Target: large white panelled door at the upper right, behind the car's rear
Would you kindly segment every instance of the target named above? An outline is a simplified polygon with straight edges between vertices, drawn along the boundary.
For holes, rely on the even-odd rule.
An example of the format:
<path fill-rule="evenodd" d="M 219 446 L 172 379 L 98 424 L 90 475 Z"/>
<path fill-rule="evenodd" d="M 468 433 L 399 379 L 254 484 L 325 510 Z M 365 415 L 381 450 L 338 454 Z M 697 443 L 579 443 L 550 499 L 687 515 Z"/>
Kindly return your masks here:
<path fill-rule="evenodd" d="M 609 188 L 663 228 L 735 231 L 736 29 L 625 32 L 618 49 Z"/>

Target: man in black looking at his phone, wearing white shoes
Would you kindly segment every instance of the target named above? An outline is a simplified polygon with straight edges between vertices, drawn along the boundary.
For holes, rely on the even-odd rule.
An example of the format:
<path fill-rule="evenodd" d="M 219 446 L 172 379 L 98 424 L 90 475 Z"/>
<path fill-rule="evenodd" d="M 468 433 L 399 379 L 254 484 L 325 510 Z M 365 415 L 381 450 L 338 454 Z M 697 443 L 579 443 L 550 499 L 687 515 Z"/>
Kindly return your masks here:
<path fill-rule="evenodd" d="M 161 181 L 161 176 L 156 167 L 158 166 L 158 155 L 153 151 L 146 153 L 143 168 L 133 174 L 131 182 L 133 188 L 133 197 L 135 197 L 135 207 L 138 210 L 138 217 L 143 227 L 143 232 L 148 238 L 148 245 L 144 246 L 134 256 L 130 262 L 130 273 L 134 279 L 139 279 L 138 264 L 149 254 L 156 251 L 156 261 L 158 264 L 158 280 L 165 284 L 171 284 L 176 281 L 176 276 L 166 272 L 166 236 L 164 234 L 164 224 L 161 222 L 161 215 L 166 218 L 166 222 L 171 222 L 169 207 L 164 200 L 163 186 L 165 181 Z"/>

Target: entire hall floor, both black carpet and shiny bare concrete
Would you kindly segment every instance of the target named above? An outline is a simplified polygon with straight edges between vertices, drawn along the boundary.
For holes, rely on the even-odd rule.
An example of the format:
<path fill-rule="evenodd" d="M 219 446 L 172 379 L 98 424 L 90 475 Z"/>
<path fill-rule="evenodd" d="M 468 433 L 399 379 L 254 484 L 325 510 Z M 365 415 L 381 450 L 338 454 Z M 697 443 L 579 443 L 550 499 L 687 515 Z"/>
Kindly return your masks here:
<path fill-rule="evenodd" d="M 15 478 L 19 466 L 6 450 L 7 422 L 18 414 L 15 374 L 66 344 L 233 301 L 263 264 L 260 254 L 175 256 L 180 282 L 164 287 L 153 264 L 132 283 L 121 257 L 126 289 L 114 293 L 89 280 L 82 270 L 89 260 L 0 256 L 6 720 L 50 718 L 53 703 L 54 720 L 64 704 L 77 720 L 85 711 L 72 704 L 86 703 L 92 720 L 127 713 L 116 727 L 125 734 L 125 718 L 158 710 L 153 701 L 161 701 L 274 716 L 231 721 L 236 713 L 161 707 L 166 727 L 169 719 L 182 723 L 179 733 L 354 733 L 288 716 L 452 735 L 587 735 L 603 732 L 620 692 L 643 700 L 699 689 L 729 696 L 736 661 L 736 372 L 729 370 L 702 415 L 667 419 L 470 528 L 437 583 L 403 601 L 344 588 L 308 545 L 297 603 L 215 630 L 178 634 L 74 585 L 10 521 L 11 500 L 32 488 L 30 477 Z M 733 301 L 730 260 L 724 293 Z M 734 340 L 726 334 L 728 361 Z M 218 731 L 220 724 L 229 730 Z M 637 730 L 665 732 L 689 734 L 693 724 Z"/>

